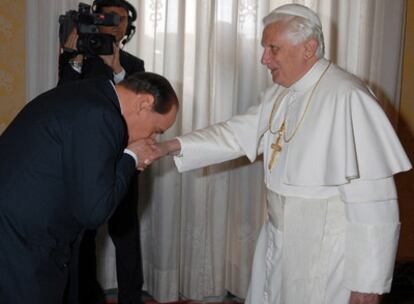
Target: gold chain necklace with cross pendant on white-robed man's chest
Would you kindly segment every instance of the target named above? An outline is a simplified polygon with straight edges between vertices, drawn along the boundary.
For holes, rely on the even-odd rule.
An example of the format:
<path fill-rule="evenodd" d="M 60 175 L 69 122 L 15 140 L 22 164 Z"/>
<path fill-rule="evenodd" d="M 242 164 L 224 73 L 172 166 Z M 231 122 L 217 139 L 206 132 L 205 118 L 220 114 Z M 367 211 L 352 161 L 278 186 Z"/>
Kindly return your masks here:
<path fill-rule="evenodd" d="M 282 144 L 281 144 L 282 138 L 283 138 L 283 141 L 285 143 L 289 143 L 292 140 L 292 138 L 296 135 L 296 132 L 299 130 L 299 127 L 302 125 L 302 122 L 303 122 L 303 120 L 306 116 L 306 113 L 308 112 L 309 106 L 312 102 L 313 94 L 315 93 L 316 88 L 319 86 L 319 83 L 321 82 L 323 76 L 325 76 L 325 74 L 328 71 L 330 66 L 331 66 L 331 62 L 329 62 L 328 66 L 325 68 L 325 70 L 322 72 L 321 76 L 319 77 L 318 81 L 313 86 L 312 91 L 309 95 L 308 101 L 306 102 L 305 110 L 303 111 L 303 114 L 300 117 L 298 124 L 296 125 L 295 129 L 292 132 L 292 135 L 290 135 L 289 138 L 286 138 L 286 133 L 285 133 L 285 131 L 286 131 L 286 118 L 287 118 L 288 109 L 286 109 L 285 115 L 283 117 L 283 121 L 282 121 L 279 129 L 277 131 L 272 130 L 272 121 L 273 121 L 273 118 L 274 118 L 274 115 L 275 115 L 276 105 L 279 104 L 282 101 L 282 99 L 286 96 L 288 90 L 286 89 L 285 91 L 283 91 L 277 97 L 275 103 L 273 104 L 272 111 L 270 113 L 270 118 L 269 118 L 269 132 L 272 133 L 272 134 L 277 134 L 275 142 L 270 145 L 270 148 L 272 149 L 272 154 L 270 156 L 270 160 L 269 160 L 269 164 L 268 164 L 269 171 L 272 170 L 272 167 L 273 167 L 273 165 L 274 165 L 274 163 L 277 159 L 277 156 L 279 156 L 280 152 L 282 151 Z M 282 96 L 282 97 L 280 97 L 280 96 Z"/>

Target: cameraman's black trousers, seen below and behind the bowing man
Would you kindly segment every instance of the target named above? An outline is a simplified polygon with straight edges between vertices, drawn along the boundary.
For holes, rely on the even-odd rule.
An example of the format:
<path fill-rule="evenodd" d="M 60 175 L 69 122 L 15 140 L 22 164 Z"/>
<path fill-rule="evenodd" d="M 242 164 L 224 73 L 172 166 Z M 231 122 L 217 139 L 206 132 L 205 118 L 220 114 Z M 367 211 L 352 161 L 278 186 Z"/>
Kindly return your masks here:
<path fill-rule="evenodd" d="M 118 303 L 141 304 L 143 285 L 139 221 L 137 216 L 138 174 L 128 193 L 108 221 L 108 232 L 115 245 Z M 96 279 L 96 230 L 87 230 L 80 243 L 79 303 L 103 304 L 104 292 Z"/>

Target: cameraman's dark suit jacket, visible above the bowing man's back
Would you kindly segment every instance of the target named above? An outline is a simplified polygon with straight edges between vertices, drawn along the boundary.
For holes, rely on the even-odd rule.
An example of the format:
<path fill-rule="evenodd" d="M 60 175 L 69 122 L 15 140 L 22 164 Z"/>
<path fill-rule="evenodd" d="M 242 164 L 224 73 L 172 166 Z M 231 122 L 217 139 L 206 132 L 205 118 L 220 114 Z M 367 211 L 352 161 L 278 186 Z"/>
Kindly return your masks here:
<path fill-rule="evenodd" d="M 72 57 L 73 54 L 68 52 L 60 54 L 58 85 L 67 83 L 68 81 L 95 78 L 97 76 L 105 76 L 107 79 L 113 80 L 114 74 L 112 69 L 100 57 L 85 58 L 81 74 L 73 70 L 69 65 L 69 60 Z M 119 61 L 126 72 L 125 77 L 135 72 L 144 71 L 144 61 L 123 50 L 119 51 Z"/>

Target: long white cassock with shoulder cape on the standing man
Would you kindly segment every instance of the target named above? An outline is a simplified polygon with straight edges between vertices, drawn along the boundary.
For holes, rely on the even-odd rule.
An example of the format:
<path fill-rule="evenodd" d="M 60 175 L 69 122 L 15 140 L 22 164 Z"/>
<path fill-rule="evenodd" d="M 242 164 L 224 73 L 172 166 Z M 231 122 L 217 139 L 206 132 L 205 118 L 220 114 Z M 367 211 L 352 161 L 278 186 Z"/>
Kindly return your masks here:
<path fill-rule="evenodd" d="M 390 291 L 400 228 L 393 175 L 411 164 L 358 78 L 321 59 L 246 114 L 178 139 L 180 172 L 263 153 L 268 219 L 246 303 L 341 304 L 351 290 Z"/>

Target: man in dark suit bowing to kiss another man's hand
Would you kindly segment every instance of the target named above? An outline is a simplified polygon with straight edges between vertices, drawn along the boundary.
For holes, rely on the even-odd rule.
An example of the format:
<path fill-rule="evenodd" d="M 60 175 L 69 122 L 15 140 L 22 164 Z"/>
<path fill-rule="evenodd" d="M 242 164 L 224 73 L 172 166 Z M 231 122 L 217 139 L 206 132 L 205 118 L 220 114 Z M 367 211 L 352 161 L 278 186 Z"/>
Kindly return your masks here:
<path fill-rule="evenodd" d="M 76 239 L 108 219 L 177 109 L 152 73 L 73 82 L 23 108 L 0 136 L 2 302 L 63 302 Z"/>

